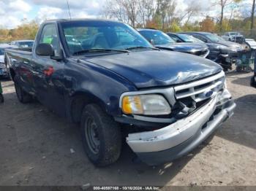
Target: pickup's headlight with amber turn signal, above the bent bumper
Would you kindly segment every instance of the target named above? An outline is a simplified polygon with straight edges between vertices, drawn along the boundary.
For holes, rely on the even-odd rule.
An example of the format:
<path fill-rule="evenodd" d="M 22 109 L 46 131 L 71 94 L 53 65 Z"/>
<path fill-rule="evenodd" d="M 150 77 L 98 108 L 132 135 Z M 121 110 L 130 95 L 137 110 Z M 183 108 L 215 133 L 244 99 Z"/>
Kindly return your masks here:
<path fill-rule="evenodd" d="M 170 114 L 171 109 L 162 95 L 125 95 L 121 101 L 124 114 L 161 115 Z"/>

